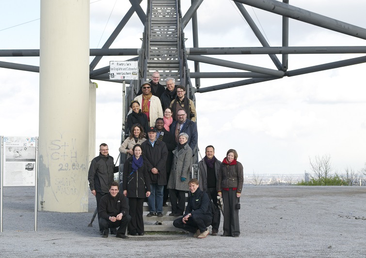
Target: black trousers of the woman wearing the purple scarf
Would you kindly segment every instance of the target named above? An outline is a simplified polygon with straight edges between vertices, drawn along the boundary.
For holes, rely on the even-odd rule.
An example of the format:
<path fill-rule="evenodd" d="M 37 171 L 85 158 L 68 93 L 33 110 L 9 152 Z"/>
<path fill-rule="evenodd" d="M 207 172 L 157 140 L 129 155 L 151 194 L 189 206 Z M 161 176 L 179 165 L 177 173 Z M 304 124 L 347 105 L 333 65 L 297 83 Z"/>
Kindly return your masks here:
<path fill-rule="evenodd" d="M 143 233 L 143 201 L 144 198 L 128 198 L 131 222 L 128 231 L 131 234 Z"/>

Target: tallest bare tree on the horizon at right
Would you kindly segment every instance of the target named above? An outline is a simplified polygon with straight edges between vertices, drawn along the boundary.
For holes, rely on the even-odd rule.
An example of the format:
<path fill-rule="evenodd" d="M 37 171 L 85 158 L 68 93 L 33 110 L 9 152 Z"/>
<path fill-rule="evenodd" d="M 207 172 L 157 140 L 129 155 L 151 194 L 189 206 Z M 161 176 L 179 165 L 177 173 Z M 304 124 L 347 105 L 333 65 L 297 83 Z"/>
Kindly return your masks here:
<path fill-rule="evenodd" d="M 332 176 L 332 172 L 334 171 L 334 167 L 331 162 L 330 155 L 323 155 L 323 156 L 315 156 L 314 160 L 310 161 L 310 167 L 314 172 L 314 178 L 322 184 L 327 185 L 327 179 Z"/>

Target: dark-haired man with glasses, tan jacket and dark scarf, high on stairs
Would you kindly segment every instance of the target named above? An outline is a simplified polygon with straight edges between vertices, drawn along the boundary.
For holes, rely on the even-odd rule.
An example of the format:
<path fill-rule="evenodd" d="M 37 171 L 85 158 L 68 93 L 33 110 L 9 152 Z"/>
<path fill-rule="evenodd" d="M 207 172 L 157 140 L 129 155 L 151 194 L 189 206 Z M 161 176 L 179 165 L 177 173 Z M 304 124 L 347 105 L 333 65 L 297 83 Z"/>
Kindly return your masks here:
<path fill-rule="evenodd" d="M 176 97 L 170 103 L 170 107 L 173 109 L 173 120 L 178 121 L 177 110 L 183 108 L 186 111 L 187 116 L 193 122 L 197 119 L 196 108 L 193 101 L 186 97 L 186 87 L 182 85 L 176 86 Z M 192 149 L 193 150 L 193 149 Z"/>

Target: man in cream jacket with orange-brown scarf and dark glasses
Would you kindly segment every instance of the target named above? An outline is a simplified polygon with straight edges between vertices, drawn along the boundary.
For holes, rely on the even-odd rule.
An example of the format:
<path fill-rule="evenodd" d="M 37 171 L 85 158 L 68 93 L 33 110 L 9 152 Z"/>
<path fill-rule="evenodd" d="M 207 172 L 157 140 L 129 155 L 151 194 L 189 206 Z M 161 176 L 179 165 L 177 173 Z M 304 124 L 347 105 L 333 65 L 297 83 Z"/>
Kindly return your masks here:
<path fill-rule="evenodd" d="M 160 100 L 157 96 L 154 96 L 151 93 L 150 83 L 143 83 L 141 89 L 143 90 L 143 93 L 141 95 L 138 95 L 134 100 L 141 103 L 141 112 L 143 112 L 147 116 L 149 126 L 154 127 L 155 121 L 159 117 L 163 117 L 163 110 L 161 108 Z"/>

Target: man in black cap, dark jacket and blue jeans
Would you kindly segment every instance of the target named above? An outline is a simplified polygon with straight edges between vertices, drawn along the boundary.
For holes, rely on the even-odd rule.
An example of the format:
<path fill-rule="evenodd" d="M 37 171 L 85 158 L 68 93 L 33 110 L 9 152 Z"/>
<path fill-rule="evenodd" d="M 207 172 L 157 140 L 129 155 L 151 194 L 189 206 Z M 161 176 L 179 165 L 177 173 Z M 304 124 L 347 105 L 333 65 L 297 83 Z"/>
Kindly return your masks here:
<path fill-rule="evenodd" d="M 163 189 L 166 185 L 166 158 L 168 149 L 163 141 L 157 140 L 156 128 L 150 127 L 147 135 L 148 140 L 141 145 L 143 147 L 143 161 L 147 164 L 150 175 L 151 194 L 147 198 L 149 213 L 148 217 L 163 216 Z"/>

